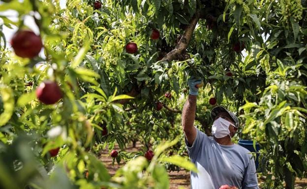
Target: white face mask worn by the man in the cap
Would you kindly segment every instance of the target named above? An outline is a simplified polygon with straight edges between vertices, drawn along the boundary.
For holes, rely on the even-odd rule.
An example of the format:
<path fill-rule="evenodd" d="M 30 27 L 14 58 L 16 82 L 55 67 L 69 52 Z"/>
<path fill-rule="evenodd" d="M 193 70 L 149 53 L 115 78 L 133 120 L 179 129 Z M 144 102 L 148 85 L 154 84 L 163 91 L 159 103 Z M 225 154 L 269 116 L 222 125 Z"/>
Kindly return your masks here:
<path fill-rule="evenodd" d="M 232 125 L 229 121 L 219 117 L 213 122 L 212 125 L 212 135 L 214 135 L 216 138 L 222 138 L 227 135 L 230 136 L 229 126 Z M 234 126 L 235 127 L 235 126 Z M 230 136 L 231 138 L 231 136 Z"/>

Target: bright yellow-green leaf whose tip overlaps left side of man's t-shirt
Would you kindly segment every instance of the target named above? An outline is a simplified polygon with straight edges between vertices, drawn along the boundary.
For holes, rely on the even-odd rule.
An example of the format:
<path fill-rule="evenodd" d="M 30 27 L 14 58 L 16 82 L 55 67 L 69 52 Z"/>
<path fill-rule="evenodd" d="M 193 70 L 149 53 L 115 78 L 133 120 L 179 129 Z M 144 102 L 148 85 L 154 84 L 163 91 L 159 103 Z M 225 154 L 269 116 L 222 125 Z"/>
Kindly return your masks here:
<path fill-rule="evenodd" d="M 174 165 L 183 167 L 186 170 L 193 171 L 195 173 L 198 172 L 194 163 L 186 160 L 184 157 L 181 157 L 181 156 L 161 157 L 161 158 L 159 158 L 159 161 L 169 162 L 169 163 L 172 163 Z"/>

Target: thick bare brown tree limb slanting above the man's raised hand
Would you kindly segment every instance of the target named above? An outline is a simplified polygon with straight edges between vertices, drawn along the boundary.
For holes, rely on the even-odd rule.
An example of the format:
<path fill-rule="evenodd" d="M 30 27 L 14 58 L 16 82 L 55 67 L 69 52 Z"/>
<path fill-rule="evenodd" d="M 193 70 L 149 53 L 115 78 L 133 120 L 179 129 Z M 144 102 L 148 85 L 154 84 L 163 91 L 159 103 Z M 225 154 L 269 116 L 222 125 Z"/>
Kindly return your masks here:
<path fill-rule="evenodd" d="M 178 59 L 179 56 L 184 52 L 184 50 L 187 48 L 188 43 L 190 42 L 192 35 L 193 35 L 193 31 L 196 27 L 196 24 L 198 22 L 199 19 L 199 14 L 196 13 L 194 14 L 194 16 L 192 17 L 190 24 L 185 28 L 184 30 L 184 34 L 182 35 L 179 43 L 177 44 L 176 48 L 174 50 L 172 50 L 171 52 L 169 52 L 168 54 L 166 54 L 166 56 L 164 56 L 161 61 L 167 61 L 170 62 L 172 60 Z"/>

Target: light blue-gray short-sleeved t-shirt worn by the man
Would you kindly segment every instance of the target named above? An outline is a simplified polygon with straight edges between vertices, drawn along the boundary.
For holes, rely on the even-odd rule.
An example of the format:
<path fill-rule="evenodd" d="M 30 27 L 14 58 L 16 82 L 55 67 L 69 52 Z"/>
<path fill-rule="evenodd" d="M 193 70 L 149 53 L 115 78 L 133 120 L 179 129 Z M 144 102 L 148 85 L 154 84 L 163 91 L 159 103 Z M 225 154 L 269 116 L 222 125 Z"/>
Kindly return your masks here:
<path fill-rule="evenodd" d="M 197 128 L 188 155 L 198 173 L 191 172 L 191 189 L 219 189 L 221 185 L 238 189 L 259 189 L 254 159 L 250 152 L 238 145 L 221 145 L 212 136 Z"/>

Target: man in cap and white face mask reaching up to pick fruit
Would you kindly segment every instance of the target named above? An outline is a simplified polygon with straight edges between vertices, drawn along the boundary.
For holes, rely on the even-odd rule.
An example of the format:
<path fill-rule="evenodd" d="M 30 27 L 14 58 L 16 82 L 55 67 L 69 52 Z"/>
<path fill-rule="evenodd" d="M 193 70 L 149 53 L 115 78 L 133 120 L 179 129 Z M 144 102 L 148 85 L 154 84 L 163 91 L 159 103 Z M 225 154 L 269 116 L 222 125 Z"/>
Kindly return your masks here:
<path fill-rule="evenodd" d="M 195 85 L 201 82 L 195 77 L 188 80 L 189 96 L 182 115 L 188 155 L 198 169 L 198 173 L 191 172 L 191 189 L 219 189 L 222 185 L 259 189 L 250 152 L 231 141 L 239 127 L 235 114 L 221 106 L 213 108 L 213 136 L 207 136 L 194 127 L 198 94 Z"/>

